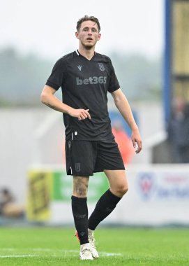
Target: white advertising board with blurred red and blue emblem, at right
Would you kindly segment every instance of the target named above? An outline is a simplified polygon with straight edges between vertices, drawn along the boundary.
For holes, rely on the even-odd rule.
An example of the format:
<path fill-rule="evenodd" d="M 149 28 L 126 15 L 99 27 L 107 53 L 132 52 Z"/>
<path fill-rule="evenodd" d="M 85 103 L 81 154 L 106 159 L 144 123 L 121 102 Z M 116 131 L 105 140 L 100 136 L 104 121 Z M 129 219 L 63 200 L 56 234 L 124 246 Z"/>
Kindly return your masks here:
<path fill-rule="evenodd" d="M 130 225 L 189 224 L 188 166 L 130 167 L 127 174 L 128 194 L 117 206 L 114 221 L 119 217 Z"/>

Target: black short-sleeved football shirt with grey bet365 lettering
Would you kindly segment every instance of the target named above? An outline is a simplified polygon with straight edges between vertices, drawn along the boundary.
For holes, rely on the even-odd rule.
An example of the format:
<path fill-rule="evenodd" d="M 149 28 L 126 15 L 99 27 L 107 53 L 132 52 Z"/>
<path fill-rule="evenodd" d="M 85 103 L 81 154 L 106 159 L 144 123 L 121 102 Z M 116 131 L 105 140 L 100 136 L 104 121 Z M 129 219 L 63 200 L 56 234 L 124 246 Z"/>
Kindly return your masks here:
<path fill-rule="evenodd" d="M 63 113 L 66 139 L 98 141 L 113 139 L 107 109 L 107 92 L 119 89 L 109 57 L 97 52 L 91 60 L 78 51 L 61 57 L 46 85 L 62 90 L 62 101 L 74 109 L 89 109 L 91 120 L 78 120 Z"/>

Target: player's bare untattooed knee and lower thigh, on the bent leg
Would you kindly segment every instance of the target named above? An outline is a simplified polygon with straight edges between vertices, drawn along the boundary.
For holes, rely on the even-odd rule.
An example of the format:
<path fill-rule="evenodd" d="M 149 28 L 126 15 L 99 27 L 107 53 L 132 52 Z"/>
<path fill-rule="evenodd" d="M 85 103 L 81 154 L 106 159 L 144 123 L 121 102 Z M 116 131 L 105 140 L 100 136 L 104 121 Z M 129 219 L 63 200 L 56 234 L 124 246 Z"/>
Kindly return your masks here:
<path fill-rule="evenodd" d="M 122 197 L 128 191 L 128 181 L 125 170 L 104 170 L 112 193 Z"/>

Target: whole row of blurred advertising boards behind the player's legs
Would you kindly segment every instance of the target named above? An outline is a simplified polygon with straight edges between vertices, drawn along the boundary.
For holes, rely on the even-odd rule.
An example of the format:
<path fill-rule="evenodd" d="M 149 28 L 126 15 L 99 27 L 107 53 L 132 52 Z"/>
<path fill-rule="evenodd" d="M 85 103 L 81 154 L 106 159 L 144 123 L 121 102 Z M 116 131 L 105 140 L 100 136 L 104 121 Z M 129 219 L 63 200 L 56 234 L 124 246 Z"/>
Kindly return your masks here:
<path fill-rule="evenodd" d="M 103 221 L 106 225 L 189 225 L 189 166 L 133 165 L 126 167 L 128 193 Z M 73 224 L 72 176 L 59 169 L 30 169 L 27 217 L 54 225 Z M 108 188 L 105 174 L 89 180 L 89 215 Z"/>

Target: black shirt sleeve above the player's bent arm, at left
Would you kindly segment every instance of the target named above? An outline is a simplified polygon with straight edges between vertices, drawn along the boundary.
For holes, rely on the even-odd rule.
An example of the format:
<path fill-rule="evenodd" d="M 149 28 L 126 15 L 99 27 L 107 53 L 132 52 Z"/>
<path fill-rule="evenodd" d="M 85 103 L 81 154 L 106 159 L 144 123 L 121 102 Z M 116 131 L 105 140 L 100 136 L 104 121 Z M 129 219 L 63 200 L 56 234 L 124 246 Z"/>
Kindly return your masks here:
<path fill-rule="evenodd" d="M 50 77 L 47 79 L 46 85 L 59 90 L 63 83 L 63 59 L 59 59 L 52 69 Z"/>

